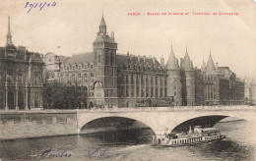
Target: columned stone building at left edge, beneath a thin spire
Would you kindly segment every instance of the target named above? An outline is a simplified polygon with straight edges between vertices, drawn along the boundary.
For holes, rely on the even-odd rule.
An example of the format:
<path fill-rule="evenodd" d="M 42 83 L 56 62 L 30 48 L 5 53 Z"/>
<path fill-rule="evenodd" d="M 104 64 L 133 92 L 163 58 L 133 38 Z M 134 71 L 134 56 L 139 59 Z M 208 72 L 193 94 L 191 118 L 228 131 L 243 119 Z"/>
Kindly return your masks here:
<path fill-rule="evenodd" d="M 13 44 L 8 20 L 6 45 L 0 47 L 0 108 L 42 108 L 41 55 Z"/>

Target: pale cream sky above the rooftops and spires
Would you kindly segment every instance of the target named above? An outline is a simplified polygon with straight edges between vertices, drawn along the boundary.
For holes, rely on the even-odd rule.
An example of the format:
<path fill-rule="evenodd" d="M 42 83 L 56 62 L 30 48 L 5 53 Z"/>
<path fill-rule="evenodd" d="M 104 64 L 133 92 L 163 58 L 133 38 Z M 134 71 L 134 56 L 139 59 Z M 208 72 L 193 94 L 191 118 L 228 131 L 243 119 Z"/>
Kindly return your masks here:
<path fill-rule="evenodd" d="M 37 5 L 29 12 L 31 3 L 25 8 L 27 2 L 56 5 L 41 10 Z M 16 46 L 64 56 L 91 52 L 103 13 L 109 35 L 114 31 L 117 53 L 129 51 L 158 60 L 162 56 L 167 62 L 172 45 L 176 58 L 183 58 L 187 48 L 194 67 L 200 68 L 203 60 L 207 63 L 211 49 L 219 67 L 229 67 L 240 78 L 256 76 L 253 0 L 0 0 L 0 4 L 0 46 L 6 43 L 10 16 Z M 193 12 L 211 15 L 193 15 Z M 219 12 L 238 16 L 213 15 Z M 148 16 L 148 13 L 160 15 Z"/>

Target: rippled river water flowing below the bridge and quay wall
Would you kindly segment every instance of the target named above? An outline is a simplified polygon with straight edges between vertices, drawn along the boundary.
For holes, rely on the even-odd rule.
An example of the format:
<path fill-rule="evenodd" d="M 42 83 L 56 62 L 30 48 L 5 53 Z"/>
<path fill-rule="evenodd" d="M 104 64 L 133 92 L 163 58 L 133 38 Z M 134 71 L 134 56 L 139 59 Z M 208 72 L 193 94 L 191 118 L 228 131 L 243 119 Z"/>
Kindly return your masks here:
<path fill-rule="evenodd" d="M 218 123 L 226 139 L 190 146 L 151 146 L 152 131 L 50 136 L 0 141 L 2 160 L 255 160 L 256 134 L 247 121 Z"/>

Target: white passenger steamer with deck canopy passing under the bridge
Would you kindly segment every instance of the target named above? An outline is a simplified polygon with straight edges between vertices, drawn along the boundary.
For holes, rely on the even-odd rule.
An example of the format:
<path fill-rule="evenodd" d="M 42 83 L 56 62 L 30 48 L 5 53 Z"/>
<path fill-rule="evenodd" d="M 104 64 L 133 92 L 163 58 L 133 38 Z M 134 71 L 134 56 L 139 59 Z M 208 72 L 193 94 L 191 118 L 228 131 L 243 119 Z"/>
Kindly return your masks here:
<path fill-rule="evenodd" d="M 152 144 L 160 146 L 180 146 L 204 142 L 213 142 L 224 138 L 225 135 L 222 135 L 220 130 L 217 130 L 215 128 L 202 128 L 201 126 L 195 126 L 194 130 L 189 127 L 189 132 L 183 134 L 170 133 L 153 135 Z"/>

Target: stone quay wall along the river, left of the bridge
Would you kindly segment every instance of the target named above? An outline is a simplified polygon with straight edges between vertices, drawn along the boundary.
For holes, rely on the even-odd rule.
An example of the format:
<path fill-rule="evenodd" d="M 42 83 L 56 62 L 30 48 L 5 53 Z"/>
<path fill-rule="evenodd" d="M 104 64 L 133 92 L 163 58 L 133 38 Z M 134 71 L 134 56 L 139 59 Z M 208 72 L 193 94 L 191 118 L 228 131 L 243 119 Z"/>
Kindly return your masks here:
<path fill-rule="evenodd" d="M 78 134 L 76 111 L 0 112 L 0 140 Z"/>

